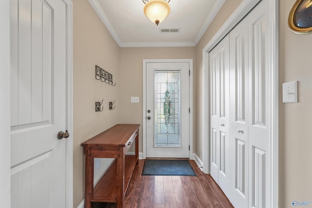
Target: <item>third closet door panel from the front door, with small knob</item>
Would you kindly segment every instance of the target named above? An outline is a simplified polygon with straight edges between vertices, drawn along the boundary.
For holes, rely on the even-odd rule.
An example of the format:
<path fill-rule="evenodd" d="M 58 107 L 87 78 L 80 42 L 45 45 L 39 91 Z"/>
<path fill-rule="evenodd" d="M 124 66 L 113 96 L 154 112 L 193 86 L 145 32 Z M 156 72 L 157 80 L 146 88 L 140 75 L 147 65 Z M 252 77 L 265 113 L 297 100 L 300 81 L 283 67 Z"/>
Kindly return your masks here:
<path fill-rule="evenodd" d="M 248 207 L 248 19 L 230 33 L 230 193 L 234 207 Z"/>

